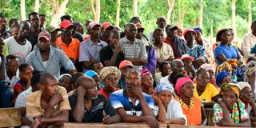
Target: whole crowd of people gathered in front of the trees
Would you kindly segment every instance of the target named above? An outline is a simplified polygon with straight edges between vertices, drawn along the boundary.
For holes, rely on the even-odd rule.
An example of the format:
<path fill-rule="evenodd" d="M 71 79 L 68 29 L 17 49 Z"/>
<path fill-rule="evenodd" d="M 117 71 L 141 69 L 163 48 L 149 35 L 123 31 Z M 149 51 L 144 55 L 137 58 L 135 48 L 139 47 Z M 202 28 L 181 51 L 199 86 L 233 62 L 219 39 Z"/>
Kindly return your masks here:
<path fill-rule="evenodd" d="M 232 29 L 219 30 L 220 43 L 212 49 L 202 28 L 182 33 L 164 17 L 157 18 L 149 39 L 138 17 L 123 31 L 90 19 L 84 26 L 70 15 L 58 27 L 46 20 L 32 12 L 26 21 L 10 19 L 6 30 L 0 15 L 0 107 L 20 108 L 22 127 L 256 122 L 256 20 L 241 49 L 231 43 Z M 206 109 L 213 115 L 207 117 Z"/>

